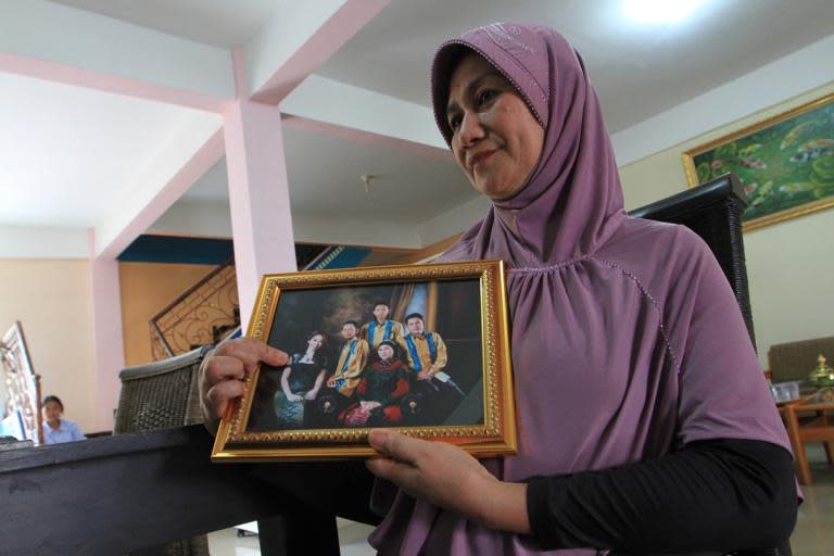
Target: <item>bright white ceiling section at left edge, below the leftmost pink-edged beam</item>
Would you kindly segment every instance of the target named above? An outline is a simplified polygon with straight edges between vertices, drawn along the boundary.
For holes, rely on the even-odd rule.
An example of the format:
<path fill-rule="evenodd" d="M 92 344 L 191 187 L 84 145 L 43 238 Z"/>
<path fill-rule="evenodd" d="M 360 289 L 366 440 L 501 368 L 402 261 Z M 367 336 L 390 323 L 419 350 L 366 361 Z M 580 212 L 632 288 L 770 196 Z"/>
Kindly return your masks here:
<path fill-rule="evenodd" d="M 0 73 L 0 225 L 89 227 L 214 114 Z M 90 202 L 94 200 L 94 202 Z"/>

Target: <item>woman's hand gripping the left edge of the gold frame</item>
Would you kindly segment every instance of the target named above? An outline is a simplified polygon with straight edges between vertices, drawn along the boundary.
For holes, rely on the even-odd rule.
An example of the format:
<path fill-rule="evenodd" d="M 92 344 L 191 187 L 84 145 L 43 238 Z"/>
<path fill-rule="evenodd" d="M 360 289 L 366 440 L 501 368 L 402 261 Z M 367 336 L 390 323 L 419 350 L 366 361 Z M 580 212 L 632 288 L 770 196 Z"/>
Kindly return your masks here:
<path fill-rule="evenodd" d="M 247 376 L 264 362 L 282 367 L 289 356 L 254 338 L 226 340 L 206 355 L 200 365 L 200 409 L 212 434 L 217 433 L 229 402 L 243 395 Z"/>

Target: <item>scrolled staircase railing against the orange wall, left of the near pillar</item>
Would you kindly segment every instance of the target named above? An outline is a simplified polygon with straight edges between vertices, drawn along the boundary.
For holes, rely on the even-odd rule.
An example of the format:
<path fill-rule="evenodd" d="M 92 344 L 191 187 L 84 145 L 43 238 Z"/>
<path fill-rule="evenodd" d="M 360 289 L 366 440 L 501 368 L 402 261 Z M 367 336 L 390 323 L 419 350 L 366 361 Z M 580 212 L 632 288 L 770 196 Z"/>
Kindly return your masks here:
<path fill-rule="evenodd" d="M 216 343 L 240 325 L 235 265 L 226 263 L 197 282 L 149 321 L 151 353 L 166 359 Z"/>

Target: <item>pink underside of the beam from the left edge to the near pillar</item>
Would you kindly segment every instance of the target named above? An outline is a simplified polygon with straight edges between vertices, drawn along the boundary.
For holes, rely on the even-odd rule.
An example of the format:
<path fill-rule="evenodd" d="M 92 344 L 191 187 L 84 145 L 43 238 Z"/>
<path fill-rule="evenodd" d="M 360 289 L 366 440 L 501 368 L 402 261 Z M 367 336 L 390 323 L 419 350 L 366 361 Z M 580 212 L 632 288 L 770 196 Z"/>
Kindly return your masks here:
<path fill-rule="evenodd" d="M 230 102 L 230 99 L 211 97 L 186 89 L 165 87 L 130 77 L 103 74 L 8 52 L 0 52 L 0 72 L 208 112 L 223 112 Z"/>

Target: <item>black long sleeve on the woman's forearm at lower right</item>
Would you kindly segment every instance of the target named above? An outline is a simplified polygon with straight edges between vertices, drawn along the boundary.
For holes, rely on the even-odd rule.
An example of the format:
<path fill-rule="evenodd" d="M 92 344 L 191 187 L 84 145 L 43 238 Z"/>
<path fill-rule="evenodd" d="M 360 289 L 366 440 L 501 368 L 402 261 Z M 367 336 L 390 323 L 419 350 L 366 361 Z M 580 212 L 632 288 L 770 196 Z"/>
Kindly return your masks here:
<path fill-rule="evenodd" d="M 546 549 L 729 552 L 783 543 L 797 496 L 781 446 L 711 440 L 648 462 L 533 478 L 527 504 Z"/>

